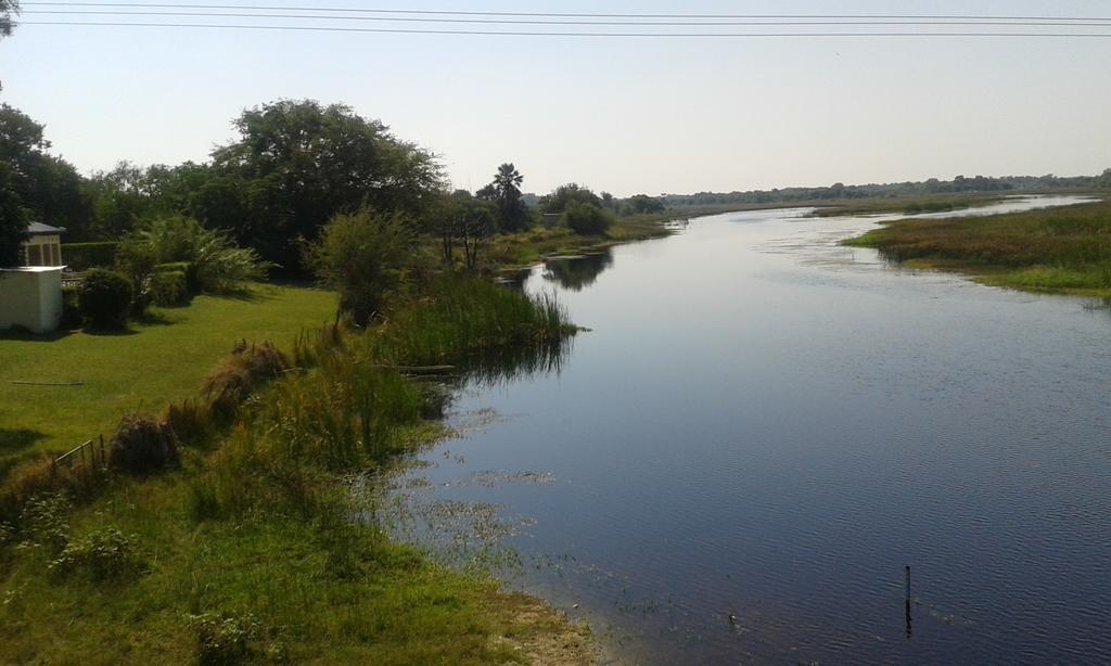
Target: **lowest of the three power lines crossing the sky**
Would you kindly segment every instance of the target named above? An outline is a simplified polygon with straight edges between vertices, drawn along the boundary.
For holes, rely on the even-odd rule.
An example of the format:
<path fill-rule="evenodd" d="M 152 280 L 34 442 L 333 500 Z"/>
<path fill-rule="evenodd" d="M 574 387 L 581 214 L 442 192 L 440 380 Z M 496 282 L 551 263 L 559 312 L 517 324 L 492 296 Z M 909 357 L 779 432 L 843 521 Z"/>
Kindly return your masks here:
<path fill-rule="evenodd" d="M 468 34 L 491 37 L 587 37 L 587 38 L 762 38 L 762 37 L 1001 37 L 1001 38 L 1111 38 L 1111 32 L 571 32 L 527 30 L 462 30 L 462 29 L 408 29 L 408 28 L 342 28 L 336 26 L 258 26 L 234 23 L 168 23 L 117 21 L 20 21 L 21 26 L 77 26 L 104 28 L 209 28 L 221 30 L 281 30 L 303 32 L 362 32 L 398 34 Z"/>

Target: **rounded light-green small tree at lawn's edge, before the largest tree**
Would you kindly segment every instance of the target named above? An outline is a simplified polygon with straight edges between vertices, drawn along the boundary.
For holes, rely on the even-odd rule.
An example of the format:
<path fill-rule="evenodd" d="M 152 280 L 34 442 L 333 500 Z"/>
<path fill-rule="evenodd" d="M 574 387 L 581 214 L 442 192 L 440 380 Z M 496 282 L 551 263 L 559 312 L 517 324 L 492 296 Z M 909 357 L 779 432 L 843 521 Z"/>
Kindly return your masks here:
<path fill-rule="evenodd" d="M 339 292 L 340 310 L 366 325 L 403 285 L 416 246 L 403 214 L 378 215 L 364 208 L 333 216 L 319 240 L 304 246 L 303 261 Z"/>

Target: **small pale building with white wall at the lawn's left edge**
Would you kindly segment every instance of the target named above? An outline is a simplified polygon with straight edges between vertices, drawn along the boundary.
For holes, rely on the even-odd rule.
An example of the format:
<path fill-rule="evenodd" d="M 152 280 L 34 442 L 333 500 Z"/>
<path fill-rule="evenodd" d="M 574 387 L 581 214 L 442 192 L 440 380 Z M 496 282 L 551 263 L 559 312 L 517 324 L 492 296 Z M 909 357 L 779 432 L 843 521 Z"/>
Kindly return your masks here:
<path fill-rule="evenodd" d="M 28 225 L 23 264 L 0 269 L 0 330 L 23 326 L 49 333 L 62 319 L 61 233 L 48 224 Z"/>

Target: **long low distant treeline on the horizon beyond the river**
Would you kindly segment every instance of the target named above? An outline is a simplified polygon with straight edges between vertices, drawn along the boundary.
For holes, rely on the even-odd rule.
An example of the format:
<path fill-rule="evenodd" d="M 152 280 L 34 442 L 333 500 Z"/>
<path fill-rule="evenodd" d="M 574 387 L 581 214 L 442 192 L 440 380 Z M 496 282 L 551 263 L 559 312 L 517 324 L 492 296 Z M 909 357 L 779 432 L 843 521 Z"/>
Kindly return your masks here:
<path fill-rule="evenodd" d="M 919 182 L 872 183 L 845 185 L 834 183 L 825 188 L 783 188 L 750 190 L 748 192 L 699 192 L 697 194 L 662 194 L 668 208 L 695 208 L 750 203 L 787 203 L 794 201 L 824 201 L 872 198 L 909 198 L 932 194 L 964 194 L 977 192 L 1051 192 L 1062 190 L 1111 189 L 1111 169 L 1100 175 L 1057 176 L 1007 175 L 988 178 L 958 175 L 943 181 L 935 178 Z"/>

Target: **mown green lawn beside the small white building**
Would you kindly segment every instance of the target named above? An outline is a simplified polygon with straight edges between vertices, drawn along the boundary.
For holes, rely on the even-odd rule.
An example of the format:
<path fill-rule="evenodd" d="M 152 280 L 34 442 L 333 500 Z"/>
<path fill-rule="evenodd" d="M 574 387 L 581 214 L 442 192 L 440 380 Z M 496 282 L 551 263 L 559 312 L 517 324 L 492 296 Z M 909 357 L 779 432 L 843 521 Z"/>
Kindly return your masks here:
<path fill-rule="evenodd" d="M 238 340 L 289 349 L 303 329 L 319 327 L 334 313 L 331 292 L 257 285 L 246 296 L 198 296 L 188 307 L 151 309 L 148 323 L 132 323 L 122 334 L 0 339 L 0 475 L 37 452 L 110 436 L 126 413 L 159 413 L 171 401 L 194 396 Z"/>

